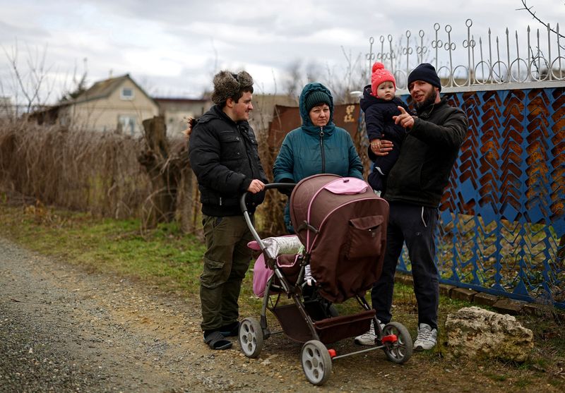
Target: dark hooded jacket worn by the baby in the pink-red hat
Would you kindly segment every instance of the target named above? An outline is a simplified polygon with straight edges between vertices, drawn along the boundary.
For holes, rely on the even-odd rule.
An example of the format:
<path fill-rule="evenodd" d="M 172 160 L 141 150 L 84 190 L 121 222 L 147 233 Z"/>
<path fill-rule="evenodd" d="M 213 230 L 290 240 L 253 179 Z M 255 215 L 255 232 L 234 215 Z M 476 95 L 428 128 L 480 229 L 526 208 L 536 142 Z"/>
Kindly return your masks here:
<path fill-rule="evenodd" d="M 398 107 L 403 107 L 408 113 L 410 109 L 398 97 L 391 100 L 381 99 L 371 95 L 371 85 L 363 89 L 363 97 L 359 102 L 365 114 L 365 126 L 369 140 L 386 139 L 402 143 L 406 135 L 403 126 L 394 123 L 393 116 L 398 116 Z M 384 136 L 383 136 L 384 135 Z"/>

